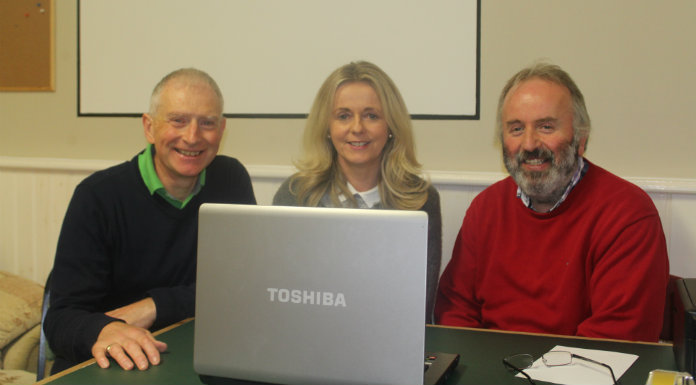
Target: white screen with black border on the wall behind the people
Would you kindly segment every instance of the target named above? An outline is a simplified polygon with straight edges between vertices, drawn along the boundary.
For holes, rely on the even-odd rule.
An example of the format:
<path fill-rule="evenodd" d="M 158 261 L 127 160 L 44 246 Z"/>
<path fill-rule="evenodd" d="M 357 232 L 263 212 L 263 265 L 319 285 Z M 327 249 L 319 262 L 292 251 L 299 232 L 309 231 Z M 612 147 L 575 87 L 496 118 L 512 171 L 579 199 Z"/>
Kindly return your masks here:
<path fill-rule="evenodd" d="M 302 118 L 351 61 L 380 66 L 415 119 L 478 119 L 480 0 L 82 0 L 80 116 L 139 116 L 182 67 L 228 117 Z"/>

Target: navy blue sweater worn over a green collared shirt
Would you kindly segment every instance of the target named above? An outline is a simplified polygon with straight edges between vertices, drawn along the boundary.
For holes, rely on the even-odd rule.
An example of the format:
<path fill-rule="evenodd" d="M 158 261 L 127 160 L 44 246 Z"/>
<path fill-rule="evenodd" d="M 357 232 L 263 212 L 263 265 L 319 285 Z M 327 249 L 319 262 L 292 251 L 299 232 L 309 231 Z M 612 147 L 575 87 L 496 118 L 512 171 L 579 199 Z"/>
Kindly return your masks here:
<path fill-rule="evenodd" d="M 58 239 L 44 322 L 56 354 L 52 372 L 92 357 L 104 312 L 152 297 L 152 330 L 194 316 L 198 208 L 201 203 L 256 204 L 249 174 L 234 158 L 217 156 L 206 183 L 183 208 L 150 195 L 129 162 L 82 181 Z"/>

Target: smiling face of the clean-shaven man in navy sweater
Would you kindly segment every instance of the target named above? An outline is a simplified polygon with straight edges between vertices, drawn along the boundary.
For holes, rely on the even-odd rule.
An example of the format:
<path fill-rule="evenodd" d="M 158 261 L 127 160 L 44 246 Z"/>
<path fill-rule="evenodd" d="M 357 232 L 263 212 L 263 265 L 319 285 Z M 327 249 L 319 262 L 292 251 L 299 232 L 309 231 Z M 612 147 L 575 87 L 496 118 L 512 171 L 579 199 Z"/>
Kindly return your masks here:
<path fill-rule="evenodd" d="M 205 82 L 169 81 L 154 113 L 143 115 L 147 141 L 155 147 L 154 163 L 164 187 L 193 186 L 215 158 L 225 119 L 220 100 Z"/>

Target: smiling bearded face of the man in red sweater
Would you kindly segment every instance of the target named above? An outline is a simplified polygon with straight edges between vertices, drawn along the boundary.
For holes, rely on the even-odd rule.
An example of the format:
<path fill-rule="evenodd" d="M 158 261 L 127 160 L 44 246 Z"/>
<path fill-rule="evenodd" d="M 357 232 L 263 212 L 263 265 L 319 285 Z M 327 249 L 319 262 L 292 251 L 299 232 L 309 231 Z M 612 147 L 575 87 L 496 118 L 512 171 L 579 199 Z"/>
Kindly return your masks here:
<path fill-rule="evenodd" d="M 539 78 L 513 87 L 502 109 L 505 167 L 537 203 L 555 203 L 570 183 L 586 139 L 576 140 L 565 87 Z"/>

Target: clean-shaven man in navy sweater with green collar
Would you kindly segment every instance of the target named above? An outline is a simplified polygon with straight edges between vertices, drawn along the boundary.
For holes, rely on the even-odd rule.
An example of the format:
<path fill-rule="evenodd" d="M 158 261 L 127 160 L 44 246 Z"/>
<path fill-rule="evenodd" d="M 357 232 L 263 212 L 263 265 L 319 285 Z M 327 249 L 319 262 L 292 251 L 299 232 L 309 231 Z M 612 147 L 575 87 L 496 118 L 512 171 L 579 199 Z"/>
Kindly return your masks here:
<path fill-rule="evenodd" d="M 145 150 L 75 189 L 48 283 L 52 372 L 91 357 L 157 365 L 167 346 L 150 330 L 194 315 L 199 206 L 256 203 L 244 166 L 217 155 L 222 113 L 208 74 L 170 73 L 142 117 Z"/>

